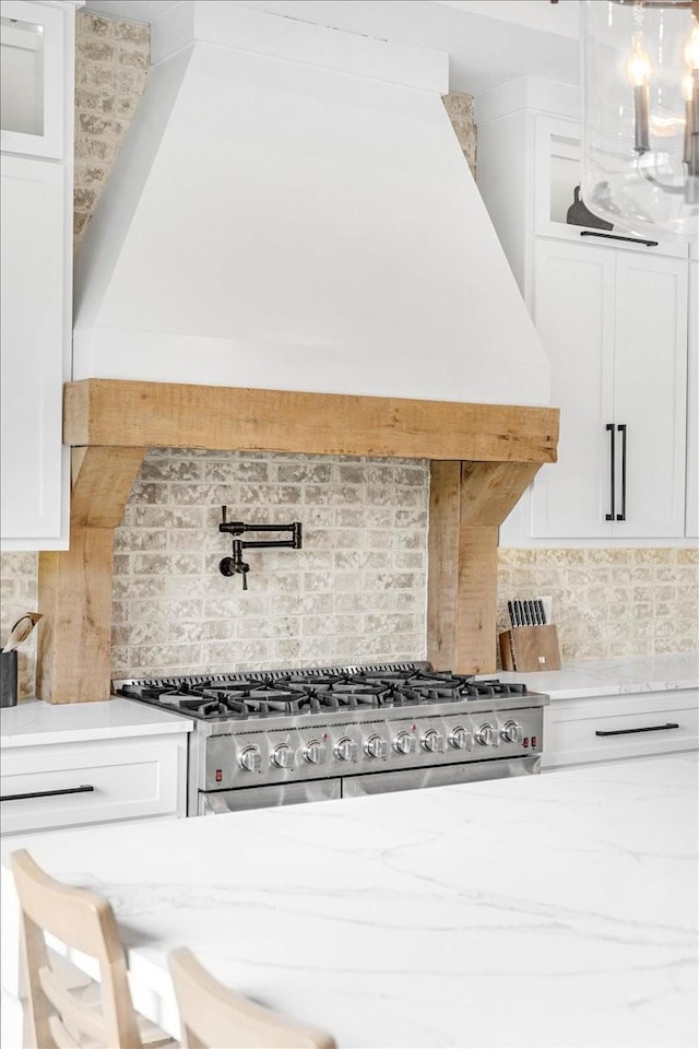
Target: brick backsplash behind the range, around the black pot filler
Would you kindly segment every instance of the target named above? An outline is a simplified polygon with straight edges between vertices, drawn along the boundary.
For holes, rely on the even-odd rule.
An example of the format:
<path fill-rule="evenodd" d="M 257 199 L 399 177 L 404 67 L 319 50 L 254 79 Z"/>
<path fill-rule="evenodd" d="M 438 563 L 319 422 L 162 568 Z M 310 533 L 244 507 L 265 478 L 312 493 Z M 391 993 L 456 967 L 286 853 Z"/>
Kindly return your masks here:
<path fill-rule="evenodd" d="M 115 534 L 115 677 L 424 659 L 428 464 L 152 450 Z M 218 570 L 229 520 L 301 550 Z M 242 539 L 287 539 L 246 534 Z"/>

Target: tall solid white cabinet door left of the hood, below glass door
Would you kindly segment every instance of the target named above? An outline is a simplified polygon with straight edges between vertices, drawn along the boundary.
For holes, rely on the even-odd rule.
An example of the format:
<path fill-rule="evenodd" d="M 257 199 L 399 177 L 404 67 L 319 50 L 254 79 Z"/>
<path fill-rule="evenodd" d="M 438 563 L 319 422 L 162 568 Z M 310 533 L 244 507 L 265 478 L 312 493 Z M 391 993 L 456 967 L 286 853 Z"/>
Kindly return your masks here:
<path fill-rule="evenodd" d="M 62 524 L 64 170 L 3 156 L 1 174 L 1 534 L 32 549 Z"/>

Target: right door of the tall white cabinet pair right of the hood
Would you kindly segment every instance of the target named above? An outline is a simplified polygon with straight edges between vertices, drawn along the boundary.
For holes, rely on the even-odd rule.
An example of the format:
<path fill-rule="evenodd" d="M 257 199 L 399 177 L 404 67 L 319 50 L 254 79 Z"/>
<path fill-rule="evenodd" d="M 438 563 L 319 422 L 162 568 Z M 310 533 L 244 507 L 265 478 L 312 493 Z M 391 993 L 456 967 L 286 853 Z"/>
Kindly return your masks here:
<path fill-rule="evenodd" d="M 685 533 L 687 279 L 684 261 L 617 255 L 614 420 L 619 455 L 626 439 L 626 520 L 614 526 L 618 538 Z M 619 425 L 627 427 L 625 433 L 618 433 Z M 617 460 L 617 472 L 623 467 Z"/>

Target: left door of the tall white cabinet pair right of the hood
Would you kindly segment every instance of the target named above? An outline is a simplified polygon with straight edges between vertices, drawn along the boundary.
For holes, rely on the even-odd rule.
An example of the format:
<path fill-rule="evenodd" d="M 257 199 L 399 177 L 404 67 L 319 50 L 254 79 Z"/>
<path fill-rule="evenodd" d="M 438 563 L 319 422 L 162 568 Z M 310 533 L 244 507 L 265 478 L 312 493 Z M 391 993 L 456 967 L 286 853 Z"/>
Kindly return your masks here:
<path fill-rule="evenodd" d="M 612 534 L 605 425 L 613 422 L 614 287 L 615 252 L 536 243 L 534 323 L 550 360 L 560 437 L 558 462 L 533 483 L 534 538 Z"/>

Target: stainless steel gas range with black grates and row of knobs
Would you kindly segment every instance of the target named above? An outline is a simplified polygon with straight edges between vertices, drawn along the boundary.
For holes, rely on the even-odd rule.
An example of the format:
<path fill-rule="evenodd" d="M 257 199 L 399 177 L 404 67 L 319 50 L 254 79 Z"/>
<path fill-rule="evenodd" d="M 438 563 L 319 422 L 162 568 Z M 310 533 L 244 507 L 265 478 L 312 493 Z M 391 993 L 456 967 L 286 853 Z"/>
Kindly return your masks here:
<path fill-rule="evenodd" d="M 426 662 L 114 687 L 194 719 L 189 815 L 538 773 L 548 703 L 524 684 Z"/>

